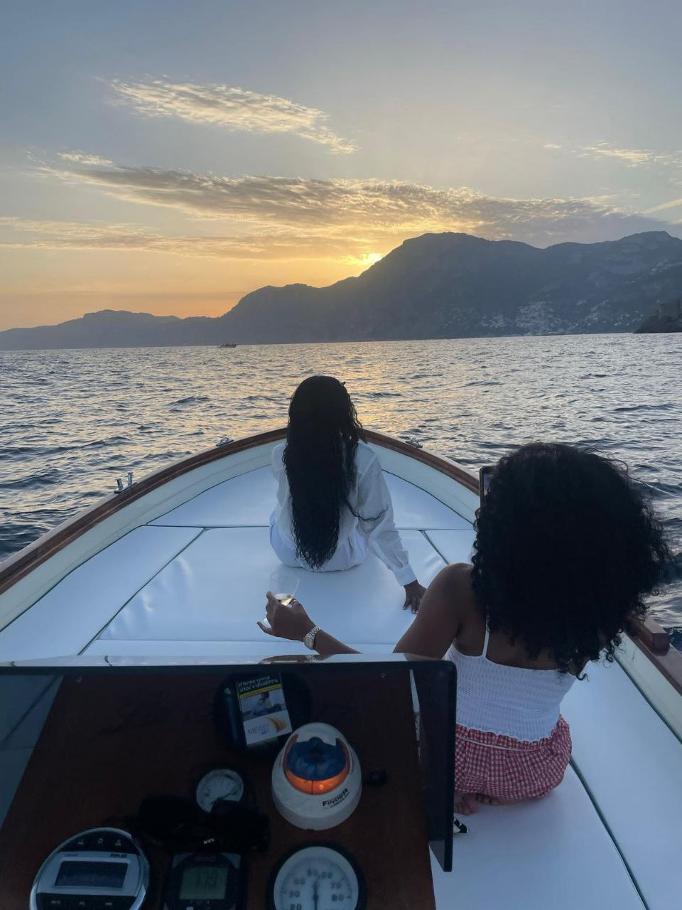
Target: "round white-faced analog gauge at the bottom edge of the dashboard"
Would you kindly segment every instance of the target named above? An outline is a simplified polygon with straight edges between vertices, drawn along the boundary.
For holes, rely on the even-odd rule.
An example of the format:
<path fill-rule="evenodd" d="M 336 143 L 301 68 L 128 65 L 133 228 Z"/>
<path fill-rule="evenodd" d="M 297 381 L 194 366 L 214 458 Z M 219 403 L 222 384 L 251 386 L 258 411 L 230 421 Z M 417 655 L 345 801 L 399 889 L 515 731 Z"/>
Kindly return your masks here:
<path fill-rule="evenodd" d="M 286 854 L 267 886 L 268 910 L 363 910 L 365 900 L 360 867 L 332 844 L 311 844 Z"/>

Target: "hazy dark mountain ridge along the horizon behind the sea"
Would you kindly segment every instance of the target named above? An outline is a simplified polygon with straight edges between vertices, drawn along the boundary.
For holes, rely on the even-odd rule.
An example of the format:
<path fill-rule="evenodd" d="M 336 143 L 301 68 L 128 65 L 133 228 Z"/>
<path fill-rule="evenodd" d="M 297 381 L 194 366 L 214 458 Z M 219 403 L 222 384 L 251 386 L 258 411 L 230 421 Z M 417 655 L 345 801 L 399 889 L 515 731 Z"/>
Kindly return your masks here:
<path fill-rule="evenodd" d="M 0 349 L 633 331 L 680 292 L 682 239 L 667 231 L 547 248 L 446 232 L 406 239 L 359 276 L 323 288 L 257 288 L 222 316 L 105 309 L 7 329 Z"/>

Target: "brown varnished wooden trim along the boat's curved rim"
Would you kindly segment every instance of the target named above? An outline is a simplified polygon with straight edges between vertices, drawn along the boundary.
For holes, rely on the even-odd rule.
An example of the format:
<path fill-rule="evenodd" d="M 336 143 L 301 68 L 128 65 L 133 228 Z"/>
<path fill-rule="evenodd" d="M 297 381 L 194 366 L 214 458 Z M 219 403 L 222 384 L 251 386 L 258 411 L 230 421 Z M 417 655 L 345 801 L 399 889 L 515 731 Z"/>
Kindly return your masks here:
<path fill-rule="evenodd" d="M 375 430 L 366 430 L 365 432 L 368 442 L 420 461 L 456 480 L 466 490 L 470 490 L 476 495 L 478 494 L 479 486 L 476 474 L 461 468 L 455 462 L 434 455 L 432 452 L 417 449 L 407 442 L 396 440 Z M 212 449 L 197 452 L 196 455 L 190 455 L 186 459 L 175 461 L 165 468 L 155 470 L 143 480 L 139 480 L 132 487 L 122 490 L 120 493 L 111 493 L 105 496 L 95 502 L 95 505 L 79 512 L 72 519 L 57 525 L 52 531 L 47 531 L 42 537 L 39 537 L 37 541 L 28 544 L 23 550 L 0 562 L 0 594 L 11 588 L 37 566 L 49 560 L 55 553 L 64 549 L 82 534 L 85 534 L 86 531 L 90 531 L 100 521 L 104 521 L 114 515 L 115 512 L 124 509 L 131 502 L 141 499 L 152 490 L 158 489 L 169 480 L 176 480 L 176 478 L 189 471 L 201 468 L 213 461 L 229 458 L 237 452 L 278 442 L 285 437 L 286 428 L 280 427 L 277 430 L 268 430 L 265 433 L 246 437 L 243 440 L 217 445 Z M 657 622 L 648 618 L 631 622 L 628 632 L 629 637 L 637 644 L 639 650 L 646 654 L 647 658 L 657 666 L 657 669 L 677 689 L 677 692 L 682 693 L 682 654 L 670 649 L 667 632 Z"/>

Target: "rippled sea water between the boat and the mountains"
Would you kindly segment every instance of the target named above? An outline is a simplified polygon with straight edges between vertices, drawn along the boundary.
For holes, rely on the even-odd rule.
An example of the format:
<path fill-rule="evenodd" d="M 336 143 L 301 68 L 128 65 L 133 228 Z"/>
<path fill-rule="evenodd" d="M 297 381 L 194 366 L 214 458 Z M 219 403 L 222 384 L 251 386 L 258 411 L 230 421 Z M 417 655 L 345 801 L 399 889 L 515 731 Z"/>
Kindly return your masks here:
<path fill-rule="evenodd" d="M 655 611 L 682 625 L 682 335 L 0 351 L 0 557 L 126 470 L 282 426 L 320 372 L 346 381 L 367 427 L 474 468 L 538 439 L 626 460 L 677 553 Z"/>

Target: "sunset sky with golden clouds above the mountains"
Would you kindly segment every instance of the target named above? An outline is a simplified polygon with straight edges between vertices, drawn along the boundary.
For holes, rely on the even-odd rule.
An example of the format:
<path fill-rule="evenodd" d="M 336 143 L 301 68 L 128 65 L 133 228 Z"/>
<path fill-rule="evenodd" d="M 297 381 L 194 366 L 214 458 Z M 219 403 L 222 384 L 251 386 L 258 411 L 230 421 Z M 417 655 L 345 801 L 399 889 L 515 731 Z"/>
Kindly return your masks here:
<path fill-rule="evenodd" d="M 679 0 L 5 0 L 0 329 L 682 236 Z"/>

